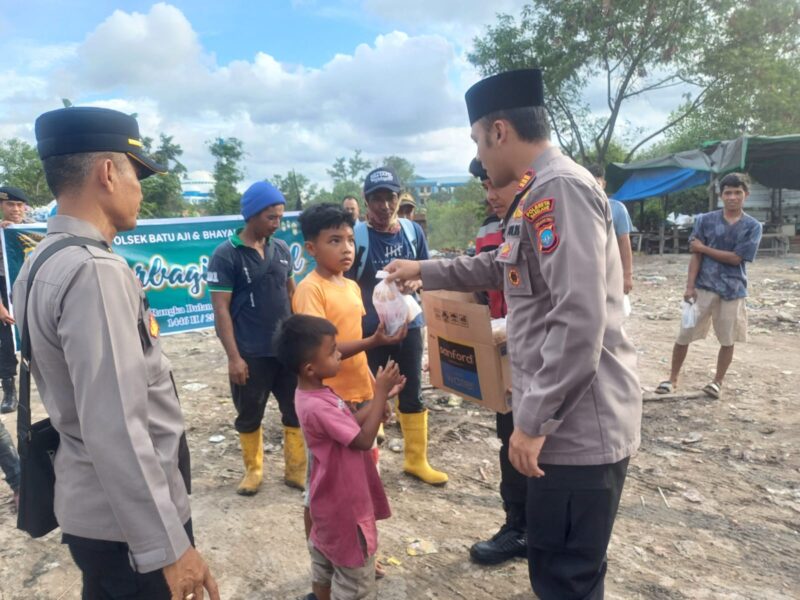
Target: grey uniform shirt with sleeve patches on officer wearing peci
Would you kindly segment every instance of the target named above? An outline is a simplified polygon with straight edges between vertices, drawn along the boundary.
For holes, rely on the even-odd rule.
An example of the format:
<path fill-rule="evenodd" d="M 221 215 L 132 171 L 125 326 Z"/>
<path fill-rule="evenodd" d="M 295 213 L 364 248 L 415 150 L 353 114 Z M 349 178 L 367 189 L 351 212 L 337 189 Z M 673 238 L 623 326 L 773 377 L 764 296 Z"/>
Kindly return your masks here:
<path fill-rule="evenodd" d="M 622 328 L 610 205 L 557 148 L 534 162 L 519 192 L 500 248 L 423 262 L 423 287 L 503 288 L 514 425 L 547 436 L 541 464 L 618 462 L 639 447 L 642 393 Z"/>

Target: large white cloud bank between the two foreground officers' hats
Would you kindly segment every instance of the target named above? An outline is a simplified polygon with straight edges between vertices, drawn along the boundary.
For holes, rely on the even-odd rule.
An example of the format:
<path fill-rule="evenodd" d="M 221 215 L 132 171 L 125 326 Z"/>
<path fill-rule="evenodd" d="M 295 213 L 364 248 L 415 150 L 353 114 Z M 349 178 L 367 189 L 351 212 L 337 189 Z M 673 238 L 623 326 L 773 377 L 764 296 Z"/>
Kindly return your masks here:
<path fill-rule="evenodd" d="M 400 154 L 420 172 L 461 173 L 472 152 L 463 59 L 439 35 L 379 35 L 315 69 L 268 48 L 218 64 L 180 10 L 156 4 L 114 12 L 73 54 L 49 87 L 37 82 L 41 97 L 136 112 L 144 135 L 175 137 L 190 169 L 211 166 L 206 142 L 220 136 L 244 142 L 248 181 L 294 168 L 325 183 L 333 159 L 356 148 L 373 161 Z"/>

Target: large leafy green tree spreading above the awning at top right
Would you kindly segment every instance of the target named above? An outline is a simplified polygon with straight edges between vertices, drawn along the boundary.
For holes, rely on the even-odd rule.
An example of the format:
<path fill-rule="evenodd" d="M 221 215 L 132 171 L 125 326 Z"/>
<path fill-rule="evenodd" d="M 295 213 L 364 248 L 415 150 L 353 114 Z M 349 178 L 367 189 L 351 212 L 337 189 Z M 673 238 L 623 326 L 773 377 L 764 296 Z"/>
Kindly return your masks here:
<path fill-rule="evenodd" d="M 565 152 L 605 163 L 618 141 L 629 148 L 627 162 L 687 119 L 707 120 L 706 111 L 732 112 L 730 120 L 740 122 L 753 119 L 755 102 L 779 121 L 796 119 L 796 95 L 771 94 L 774 85 L 800 85 L 798 17 L 796 0 L 538 0 L 518 20 L 500 15 L 475 40 L 470 60 L 485 75 L 542 67 L 553 131 Z M 594 117 L 586 95 L 598 78 L 608 110 Z M 693 92 L 667 123 L 620 139 L 617 126 L 631 100 L 676 86 Z"/>

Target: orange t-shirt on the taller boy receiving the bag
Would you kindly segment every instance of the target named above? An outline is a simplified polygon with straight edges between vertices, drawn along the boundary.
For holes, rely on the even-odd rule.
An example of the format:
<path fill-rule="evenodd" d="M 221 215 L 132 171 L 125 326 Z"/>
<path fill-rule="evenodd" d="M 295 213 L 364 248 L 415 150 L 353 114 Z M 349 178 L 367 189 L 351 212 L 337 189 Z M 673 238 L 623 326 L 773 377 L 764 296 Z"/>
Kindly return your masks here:
<path fill-rule="evenodd" d="M 328 319 L 339 332 L 337 340 L 352 342 L 363 338 L 361 317 L 366 311 L 361 300 L 361 288 L 350 279 L 335 283 L 311 271 L 297 285 L 292 296 L 292 311 Z M 371 400 L 372 377 L 366 352 L 343 360 L 339 374 L 324 383 L 347 402 Z"/>

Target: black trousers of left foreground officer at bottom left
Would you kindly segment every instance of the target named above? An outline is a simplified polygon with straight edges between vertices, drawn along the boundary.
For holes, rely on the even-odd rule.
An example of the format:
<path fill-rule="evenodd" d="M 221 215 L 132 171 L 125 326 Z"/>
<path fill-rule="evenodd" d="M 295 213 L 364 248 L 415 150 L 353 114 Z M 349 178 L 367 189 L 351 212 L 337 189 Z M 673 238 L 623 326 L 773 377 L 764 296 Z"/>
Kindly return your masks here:
<path fill-rule="evenodd" d="M 184 525 L 194 546 L 192 520 Z M 62 543 L 83 575 L 83 600 L 170 600 L 161 569 L 137 573 L 131 566 L 128 544 L 92 540 L 65 533 Z"/>

